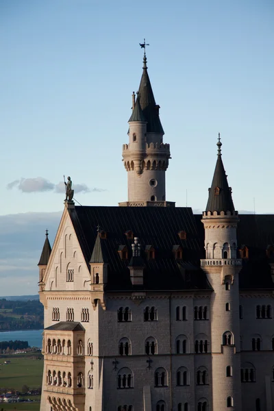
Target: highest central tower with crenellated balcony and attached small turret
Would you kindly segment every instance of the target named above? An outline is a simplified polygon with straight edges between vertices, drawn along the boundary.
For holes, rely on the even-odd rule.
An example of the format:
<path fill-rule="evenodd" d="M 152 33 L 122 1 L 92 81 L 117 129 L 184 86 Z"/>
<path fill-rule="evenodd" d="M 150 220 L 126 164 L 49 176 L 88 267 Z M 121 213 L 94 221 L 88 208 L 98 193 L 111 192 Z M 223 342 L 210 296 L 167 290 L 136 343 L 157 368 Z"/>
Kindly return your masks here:
<path fill-rule="evenodd" d="M 139 90 L 132 95 L 129 144 L 123 145 L 128 200 L 121 206 L 166 206 L 166 169 L 171 153 L 147 73 L 144 54 Z M 169 203 L 169 206 L 172 204 Z"/>

